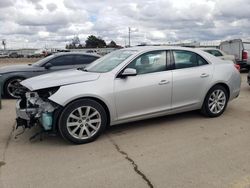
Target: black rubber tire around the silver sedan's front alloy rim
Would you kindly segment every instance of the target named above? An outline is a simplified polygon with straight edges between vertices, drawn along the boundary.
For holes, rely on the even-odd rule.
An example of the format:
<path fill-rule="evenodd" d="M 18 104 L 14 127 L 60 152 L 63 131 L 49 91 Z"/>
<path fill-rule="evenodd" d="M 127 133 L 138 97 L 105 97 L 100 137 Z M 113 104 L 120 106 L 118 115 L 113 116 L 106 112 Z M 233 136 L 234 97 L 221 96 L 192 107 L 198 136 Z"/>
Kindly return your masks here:
<path fill-rule="evenodd" d="M 81 112 L 83 112 L 83 109 L 87 111 L 86 108 L 88 108 L 88 107 L 90 107 L 90 110 L 88 113 L 89 116 L 86 116 L 85 120 L 81 119 L 83 117 L 80 117 L 79 118 L 80 120 L 79 119 L 76 120 L 75 118 L 70 117 L 70 115 L 72 115 L 72 114 L 76 115 L 78 117 L 77 113 L 80 114 L 80 112 L 78 111 L 78 108 L 81 108 Z M 93 127 L 93 124 L 91 124 L 92 126 L 90 126 L 87 122 L 87 121 L 89 121 L 89 122 L 93 121 L 90 119 L 90 116 L 94 114 L 95 110 L 98 113 L 96 116 L 93 116 L 93 117 L 97 117 L 98 119 L 101 119 L 100 123 L 96 123 L 96 126 L 98 125 L 97 130 L 92 129 L 91 127 Z M 85 111 L 85 115 L 86 115 L 86 111 Z M 90 114 L 91 111 L 92 111 L 92 114 Z M 79 115 L 79 116 L 81 116 L 81 115 Z M 71 122 L 69 122 L 69 121 L 71 121 Z M 73 122 L 73 121 L 75 121 L 75 122 Z M 81 122 L 79 123 L 79 121 L 81 121 Z M 71 127 L 67 126 L 70 123 L 71 124 L 72 123 L 78 124 L 78 125 L 72 126 L 73 127 L 72 129 L 77 129 L 77 131 L 74 132 L 74 130 L 72 130 Z M 81 124 L 81 125 L 79 125 L 79 124 Z M 62 111 L 62 113 L 59 117 L 59 121 L 58 121 L 58 129 L 59 129 L 61 136 L 65 140 L 72 142 L 74 144 L 85 144 L 85 143 L 89 143 L 89 142 L 96 140 L 100 136 L 100 134 L 105 130 L 106 126 L 107 126 L 107 113 L 106 113 L 105 109 L 103 108 L 103 106 L 101 104 L 99 104 L 98 102 L 91 100 L 91 99 L 79 99 L 79 100 L 76 100 L 76 101 L 70 103 Z M 86 136 L 88 136 L 87 132 L 91 133 L 93 135 L 91 135 L 88 138 L 81 138 L 81 139 L 77 138 L 76 134 L 78 134 L 78 136 L 79 136 L 81 129 L 84 129 L 83 133 L 85 133 Z M 88 131 L 86 131 L 86 129 L 88 129 Z M 79 130 L 79 132 L 78 132 L 78 130 Z M 72 133 L 72 132 L 74 132 L 74 133 Z M 82 136 L 83 136 L 83 133 L 81 134 Z"/>

